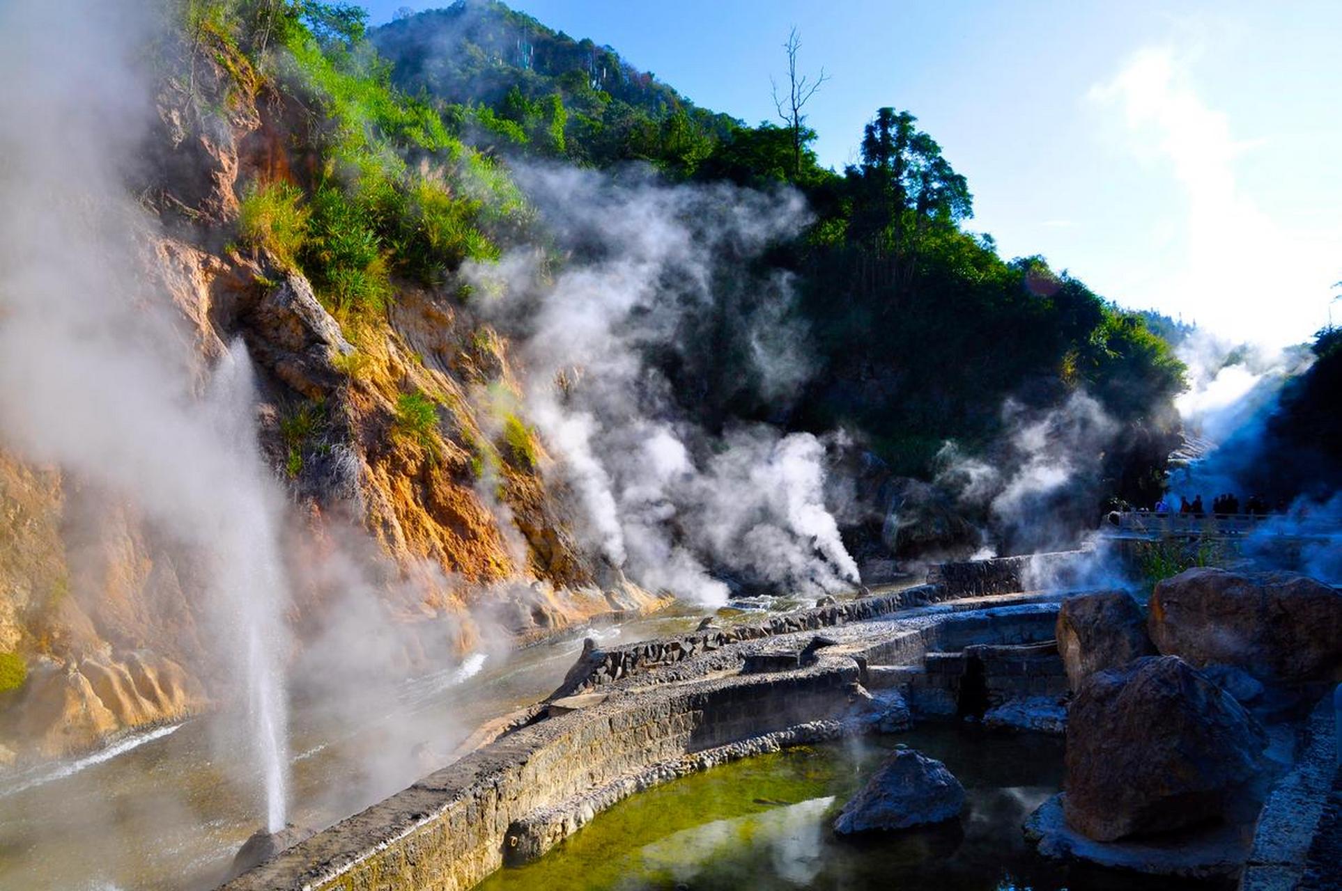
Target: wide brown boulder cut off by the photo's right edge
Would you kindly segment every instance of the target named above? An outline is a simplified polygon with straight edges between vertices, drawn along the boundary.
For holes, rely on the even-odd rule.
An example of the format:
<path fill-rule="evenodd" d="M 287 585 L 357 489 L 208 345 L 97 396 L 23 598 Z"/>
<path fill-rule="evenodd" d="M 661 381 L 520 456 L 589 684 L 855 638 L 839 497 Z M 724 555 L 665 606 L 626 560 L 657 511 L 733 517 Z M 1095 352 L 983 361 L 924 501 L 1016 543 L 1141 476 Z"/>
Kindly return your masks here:
<path fill-rule="evenodd" d="M 1261 681 L 1342 679 L 1342 591 L 1295 572 L 1196 568 L 1151 596 L 1151 639 L 1189 663 Z"/>

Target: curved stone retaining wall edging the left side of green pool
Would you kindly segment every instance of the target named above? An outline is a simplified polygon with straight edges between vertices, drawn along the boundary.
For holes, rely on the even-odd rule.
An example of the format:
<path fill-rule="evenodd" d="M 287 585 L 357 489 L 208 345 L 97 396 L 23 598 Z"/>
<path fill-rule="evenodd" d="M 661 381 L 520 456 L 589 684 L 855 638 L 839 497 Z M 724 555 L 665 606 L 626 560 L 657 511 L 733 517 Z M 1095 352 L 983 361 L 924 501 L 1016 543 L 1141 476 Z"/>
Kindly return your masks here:
<path fill-rule="evenodd" d="M 687 756 L 837 719 L 859 678 L 852 658 L 821 655 L 785 675 L 620 691 L 522 728 L 224 888 L 464 891 L 509 851 L 538 856 L 619 797 L 692 769 Z"/>

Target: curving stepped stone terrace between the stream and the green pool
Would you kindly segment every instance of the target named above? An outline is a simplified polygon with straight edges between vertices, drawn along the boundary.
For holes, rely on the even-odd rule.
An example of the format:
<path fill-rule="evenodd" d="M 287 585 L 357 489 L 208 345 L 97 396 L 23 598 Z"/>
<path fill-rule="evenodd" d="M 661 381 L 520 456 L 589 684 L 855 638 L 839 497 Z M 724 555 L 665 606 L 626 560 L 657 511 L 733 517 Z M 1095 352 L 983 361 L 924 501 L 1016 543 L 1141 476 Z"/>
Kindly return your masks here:
<path fill-rule="evenodd" d="M 859 683 L 876 681 L 874 667 L 917 674 L 929 653 L 1053 635 L 1056 595 L 965 594 L 973 592 L 923 586 L 760 626 L 589 648 L 530 724 L 224 888 L 464 891 L 505 862 L 541 856 L 650 785 L 862 730 L 854 701 Z M 794 667 L 742 671 L 766 654 Z"/>

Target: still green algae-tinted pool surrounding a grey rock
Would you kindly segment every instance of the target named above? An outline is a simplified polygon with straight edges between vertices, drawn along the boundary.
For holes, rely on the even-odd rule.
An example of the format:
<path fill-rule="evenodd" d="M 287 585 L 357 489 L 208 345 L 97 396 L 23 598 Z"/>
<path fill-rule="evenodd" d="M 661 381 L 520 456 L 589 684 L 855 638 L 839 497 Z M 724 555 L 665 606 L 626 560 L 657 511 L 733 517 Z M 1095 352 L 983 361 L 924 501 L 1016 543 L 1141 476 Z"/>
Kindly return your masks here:
<path fill-rule="evenodd" d="M 829 827 L 898 744 L 945 761 L 965 785 L 960 825 L 854 844 Z M 1021 823 L 1062 786 L 1062 740 L 954 726 L 746 758 L 627 799 L 541 860 L 480 891 L 1071 891 L 1131 876 L 1039 858 Z M 1142 879 L 1143 891 L 1159 883 Z M 1166 886 L 1168 887 L 1168 886 Z"/>

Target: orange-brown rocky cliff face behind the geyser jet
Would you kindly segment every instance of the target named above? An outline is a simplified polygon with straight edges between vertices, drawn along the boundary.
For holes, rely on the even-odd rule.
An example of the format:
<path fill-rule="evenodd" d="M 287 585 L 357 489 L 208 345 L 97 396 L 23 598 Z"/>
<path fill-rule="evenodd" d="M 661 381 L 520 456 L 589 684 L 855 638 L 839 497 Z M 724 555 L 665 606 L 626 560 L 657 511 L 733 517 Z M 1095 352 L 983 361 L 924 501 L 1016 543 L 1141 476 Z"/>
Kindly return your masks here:
<path fill-rule="evenodd" d="M 204 381 L 239 338 L 255 364 L 262 449 L 291 502 L 298 647 L 348 603 L 344 579 L 323 571 L 337 557 L 370 580 L 382 615 L 413 628 L 407 671 L 470 646 L 478 607 L 530 636 L 656 603 L 582 551 L 553 462 L 525 426 L 519 442 L 494 417 L 519 399 L 505 339 L 401 283 L 385 319 L 342 326 L 302 275 L 235 247 L 243 182 L 313 176 L 313 111 L 227 42 L 189 67 L 156 96 L 152 174 L 134 184 L 149 210 L 140 260 L 193 343 L 188 374 Z M 408 393 L 428 395 L 428 425 L 401 423 Z M 215 675 L 201 569 L 161 532 L 134 504 L 0 452 L 0 654 L 24 666 L 0 685 L 0 752 L 68 754 L 227 694 L 203 682 Z"/>

